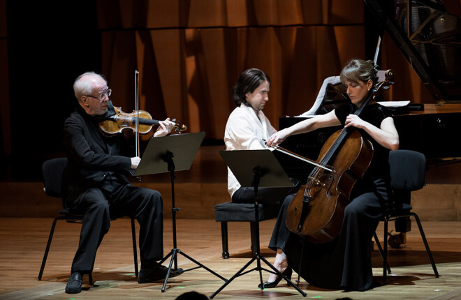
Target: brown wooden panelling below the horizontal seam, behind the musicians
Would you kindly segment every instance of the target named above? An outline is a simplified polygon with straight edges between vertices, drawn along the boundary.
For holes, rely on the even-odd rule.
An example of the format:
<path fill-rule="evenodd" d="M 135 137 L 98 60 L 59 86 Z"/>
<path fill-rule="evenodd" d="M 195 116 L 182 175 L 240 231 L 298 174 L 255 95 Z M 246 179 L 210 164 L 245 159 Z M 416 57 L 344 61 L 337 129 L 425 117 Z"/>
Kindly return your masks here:
<path fill-rule="evenodd" d="M 231 89 L 243 70 L 261 68 L 271 77 L 264 112 L 277 126 L 279 117 L 309 110 L 326 77 L 365 55 L 364 32 L 362 25 L 107 31 L 103 73 L 125 112 L 134 108 L 139 70 L 142 110 L 221 140 L 235 108 Z"/>

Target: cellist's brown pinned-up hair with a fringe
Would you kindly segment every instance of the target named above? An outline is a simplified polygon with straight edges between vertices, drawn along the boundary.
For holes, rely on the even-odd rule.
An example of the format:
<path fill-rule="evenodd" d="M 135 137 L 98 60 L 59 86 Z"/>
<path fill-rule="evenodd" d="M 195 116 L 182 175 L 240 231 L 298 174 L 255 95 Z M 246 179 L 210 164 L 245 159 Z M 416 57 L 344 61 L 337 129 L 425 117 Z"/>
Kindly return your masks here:
<path fill-rule="evenodd" d="M 353 82 L 360 84 L 360 82 L 373 81 L 373 85 L 378 81 L 378 66 L 373 61 L 364 61 L 362 59 L 352 59 L 345 66 L 340 75 L 341 82 Z"/>

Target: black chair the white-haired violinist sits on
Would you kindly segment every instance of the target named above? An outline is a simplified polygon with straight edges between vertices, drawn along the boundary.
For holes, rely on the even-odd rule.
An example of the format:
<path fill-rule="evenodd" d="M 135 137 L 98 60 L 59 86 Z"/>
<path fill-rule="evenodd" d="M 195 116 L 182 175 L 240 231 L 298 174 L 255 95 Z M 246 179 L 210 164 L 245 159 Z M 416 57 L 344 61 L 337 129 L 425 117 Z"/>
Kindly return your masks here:
<path fill-rule="evenodd" d="M 67 158 L 52 158 L 50 160 L 45 161 L 42 165 L 42 172 L 43 172 L 43 183 L 44 187 L 43 190 L 45 193 L 51 197 L 58 197 L 62 200 L 63 209 L 59 211 L 59 215 L 54 218 L 53 224 L 50 230 L 50 237 L 48 237 L 48 242 L 45 249 L 45 254 L 43 255 L 42 265 L 40 268 L 40 273 L 38 273 L 38 280 L 42 279 L 43 269 L 45 269 L 45 264 L 48 256 L 48 251 L 50 250 L 51 241 L 54 234 L 54 227 L 56 227 L 56 223 L 58 220 L 66 220 L 67 223 L 82 223 L 83 221 L 83 214 L 76 213 L 75 211 L 71 211 L 66 208 L 66 203 L 64 202 L 63 195 L 61 193 L 62 190 L 62 177 L 64 174 L 64 170 L 67 167 Z M 111 218 L 110 220 L 115 220 L 115 218 Z M 135 266 L 135 274 L 138 277 L 138 250 L 136 248 L 136 230 L 135 230 L 135 223 L 134 218 L 131 218 L 131 234 L 133 236 L 133 255 L 134 255 L 134 266 Z M 88 274 L 89 277 L 89 284 L 93 284 L 93 277 L 92 273 Z"/>

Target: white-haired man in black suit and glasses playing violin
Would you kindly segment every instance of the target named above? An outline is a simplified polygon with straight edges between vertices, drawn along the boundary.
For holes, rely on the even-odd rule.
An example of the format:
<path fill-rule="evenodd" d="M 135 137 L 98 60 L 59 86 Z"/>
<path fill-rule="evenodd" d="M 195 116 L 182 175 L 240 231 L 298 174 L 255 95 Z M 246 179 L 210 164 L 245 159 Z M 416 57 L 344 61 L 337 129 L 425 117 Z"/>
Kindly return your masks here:
<path fill-rule="evenodd" d="M 124 135 L 107 137 L 98 127 L 99 121 L 114 114 L 108 83 L 101 75 L 89 72 L 75 80 L 73 89 L 78 107 L 64 123 L 68 158 L 65 203 L 84 217 L 66 293 L 81 292 L 82 274 L 92 272 L 111 216 L 130 216 L 140 224 L 139 283 L 165 278 L 168 269 L 157 263 L 163 258 L 162 197 L 156 190 L 129 183 L 126 176 L 138 167 L 140 158 L 130 155 Z M 161 121 L 155 136 L 167 135 L 173 126 L 169 119 Z M 170 277 L 179 274 L 172 270 Z"/>

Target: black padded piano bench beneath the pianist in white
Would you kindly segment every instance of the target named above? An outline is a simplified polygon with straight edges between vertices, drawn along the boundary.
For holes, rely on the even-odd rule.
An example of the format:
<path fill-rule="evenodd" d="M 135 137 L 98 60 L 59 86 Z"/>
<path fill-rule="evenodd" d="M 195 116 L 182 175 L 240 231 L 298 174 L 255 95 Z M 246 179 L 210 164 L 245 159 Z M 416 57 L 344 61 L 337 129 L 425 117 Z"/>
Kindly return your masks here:
<path fill-rule="evenodd" d="M 270 220 L 277 218 L 279 215 L 281 204 L 268 205 L 258 204 L 259 221 Z M 221 222 L 221 239 L 223 243 L 223 258 L 229 258 L 228 250 L 228 222 L 249 222 L 251 233 L 251 252 L 254 253 L 254 245 L 256 244 L 255 220 L 254 220 L 254 204 L 253 203 L 235 203 L 225 202 L 214 205 L 214 219 Z"/>

